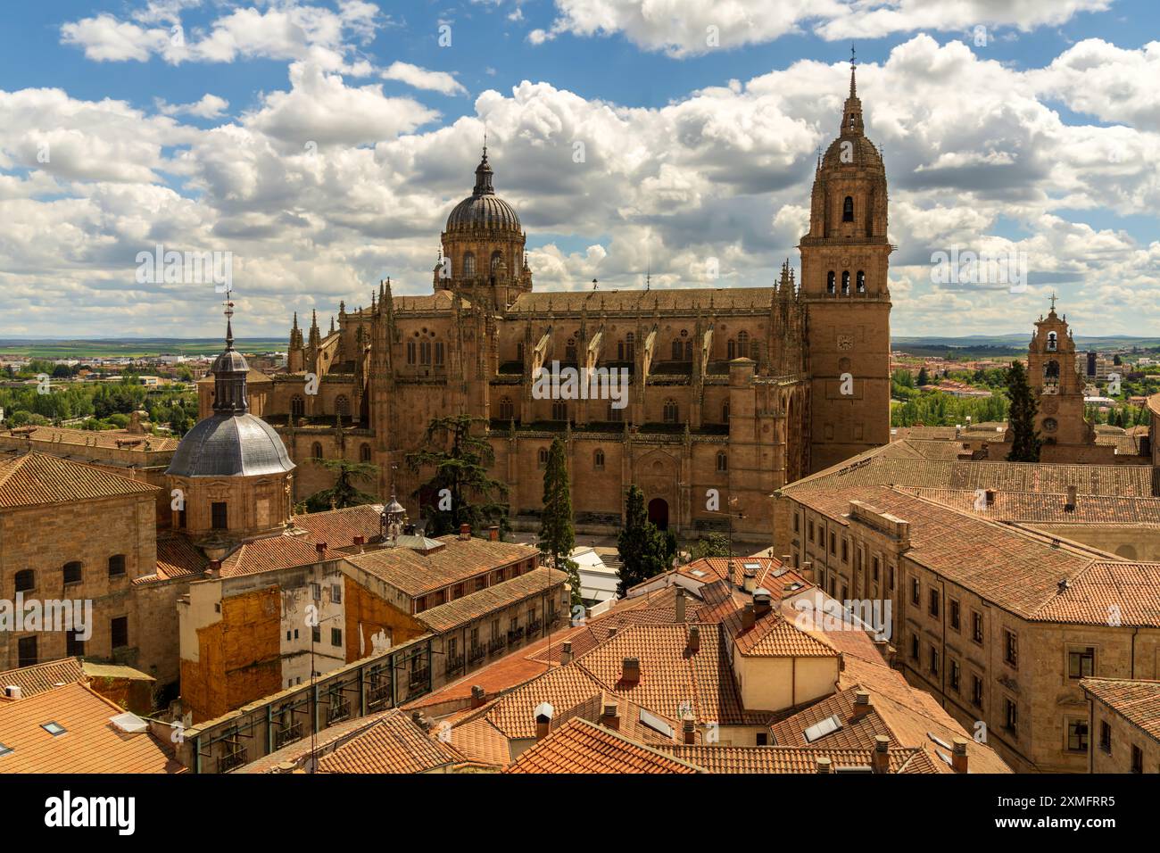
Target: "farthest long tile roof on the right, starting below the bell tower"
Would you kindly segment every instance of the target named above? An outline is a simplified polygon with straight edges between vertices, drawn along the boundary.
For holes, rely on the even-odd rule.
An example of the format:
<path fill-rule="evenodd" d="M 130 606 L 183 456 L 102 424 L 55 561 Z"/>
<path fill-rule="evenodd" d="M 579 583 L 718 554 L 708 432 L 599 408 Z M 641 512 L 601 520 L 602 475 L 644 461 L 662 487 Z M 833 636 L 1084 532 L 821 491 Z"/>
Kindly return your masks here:
<path fill-rule="evenodd" d="M 1150 497 L 1150 465 L 1065 465 L 1043 462 L 948 462 L 899 457 L 905 450 L 893 442 L 871 448 L 836 465 L 803 477 L 781 491 L 848 486 L 906 485 L 929 489 L 1007 492 L 1066 492 L 1074 485 L 1080 494 Z"/>

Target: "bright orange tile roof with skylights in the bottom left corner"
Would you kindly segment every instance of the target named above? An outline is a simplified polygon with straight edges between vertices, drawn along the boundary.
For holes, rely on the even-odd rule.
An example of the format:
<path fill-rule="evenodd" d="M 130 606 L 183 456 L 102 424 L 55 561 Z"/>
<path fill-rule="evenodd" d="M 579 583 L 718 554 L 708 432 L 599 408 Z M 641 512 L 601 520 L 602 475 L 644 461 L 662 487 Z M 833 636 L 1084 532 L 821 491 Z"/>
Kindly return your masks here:
<path fill-rule="evenodd" d="M 0 704 L 0 773 L 181 773 L 167 745 L 148 732 L 125 733 L 109 722 L 124 709 L 87 686 L 71 684 Z M 64 732 L 43 727 L 55 722 Z"/>

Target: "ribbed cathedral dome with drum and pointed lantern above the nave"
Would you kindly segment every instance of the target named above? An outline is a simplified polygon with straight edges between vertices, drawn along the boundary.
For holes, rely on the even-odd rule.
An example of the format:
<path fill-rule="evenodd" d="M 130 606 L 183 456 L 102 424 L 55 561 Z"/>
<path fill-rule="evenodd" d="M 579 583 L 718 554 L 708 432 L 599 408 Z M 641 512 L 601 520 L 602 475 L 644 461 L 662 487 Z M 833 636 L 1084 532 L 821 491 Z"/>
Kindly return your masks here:
<path fill-rule="evenodd" d="M 523 254 L 527 234 L 515 209 L 495 194 L 487 146 L 476 167 L 476 187 L 455 205 L 441 236 L 443 259 L 435 268 L 436 290 L 452 290 L 502 311 L 531 290 Z"/>

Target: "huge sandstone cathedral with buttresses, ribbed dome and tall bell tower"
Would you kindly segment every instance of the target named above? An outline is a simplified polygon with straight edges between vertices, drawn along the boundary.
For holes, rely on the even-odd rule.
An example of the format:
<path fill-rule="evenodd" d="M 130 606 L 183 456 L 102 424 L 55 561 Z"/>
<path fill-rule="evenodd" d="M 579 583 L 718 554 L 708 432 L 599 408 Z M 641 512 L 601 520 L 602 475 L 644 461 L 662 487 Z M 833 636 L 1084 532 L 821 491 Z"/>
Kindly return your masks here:
<path fill-rule="evenodd" d="M 340 304 L 328 332 L 317 315 L 304 332 L 295 315 L 285 373 L 248 376 L 251 411 L 297 464 L 295 501 L 331 485 L 311 458 L 349 458 L 378 465 L 367 491 L 394 486 L 419 519 L 434 496 L 416 497 L 426 477 L 405 456 L 433 418 L 469 413 L 517 528 L 537 523 L 561 436 L 579 532 L 614 533 L 636 484 L 650 518 L 684 538 L 767 542 L 771 492 L 890 440 L 886 211 L 853 67 L 817 162 L 800 275 L 786 261 L 770 287 L 537 290 L 485 147 L 441 234 L 432 292 L 396 296 L 383 282 L 369 308 Z M 553 366 L 626 376 L 625 399 L 534 393 Z M 203 417 L 213 393 L 202 384 Z"/>

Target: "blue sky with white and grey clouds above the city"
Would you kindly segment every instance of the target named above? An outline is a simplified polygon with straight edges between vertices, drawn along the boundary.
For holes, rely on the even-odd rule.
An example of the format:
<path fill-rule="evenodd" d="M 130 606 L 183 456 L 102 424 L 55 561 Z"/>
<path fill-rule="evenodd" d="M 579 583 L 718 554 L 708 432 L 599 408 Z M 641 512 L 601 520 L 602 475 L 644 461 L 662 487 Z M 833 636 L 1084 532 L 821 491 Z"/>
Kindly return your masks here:
<path fill-rule="evenodd" d="M 212 288 L 133 280 L 137 252 L 162 238 L 234 253 L 254 334 L 284 334 L 296 309 L 364 302 L 385 275 L 396 292 L 428 292 L 485 125 L 537 287 L 638 287 L 646 267 L 654 287 L 769 283 L 783 258 L 798 263 L 851 42 L 892 186 L 898 334 L 1024 331 L 1051 290 L 1080 334 L 1152 333 L 1154 3 L 944 6 L 13 6 L 0 30 L 7 334 L 212 332 Z M 567 157 L 577 140 L 582 168 Z M 927 259 L 951 245 L 1025 253 L 1029 291 L 934 284 Z M 704 275 L 710 258 L 720 280 Z"/>

